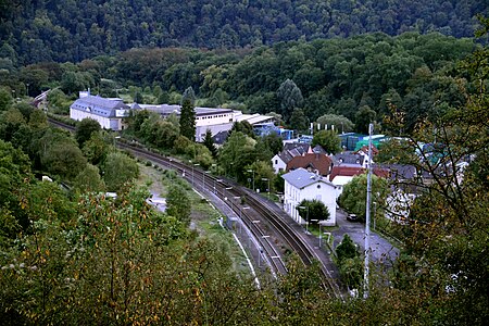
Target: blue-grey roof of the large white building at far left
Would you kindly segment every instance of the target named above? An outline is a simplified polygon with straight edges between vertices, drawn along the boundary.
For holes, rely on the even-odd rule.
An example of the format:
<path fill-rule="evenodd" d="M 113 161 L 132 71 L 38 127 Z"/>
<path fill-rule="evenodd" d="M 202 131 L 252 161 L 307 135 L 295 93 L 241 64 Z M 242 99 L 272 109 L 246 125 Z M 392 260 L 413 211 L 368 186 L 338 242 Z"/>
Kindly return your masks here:
<path fill-rule="evenodd" d="M 98 96 L 86 96 L 77 99 L 70 108 L 87 111 L 99 116 L 114 117 L 116 116 L 116 110 L 127 110 L 129 109 L 129 105 L 124 104 L 122 99 L 105 99 Z"/>

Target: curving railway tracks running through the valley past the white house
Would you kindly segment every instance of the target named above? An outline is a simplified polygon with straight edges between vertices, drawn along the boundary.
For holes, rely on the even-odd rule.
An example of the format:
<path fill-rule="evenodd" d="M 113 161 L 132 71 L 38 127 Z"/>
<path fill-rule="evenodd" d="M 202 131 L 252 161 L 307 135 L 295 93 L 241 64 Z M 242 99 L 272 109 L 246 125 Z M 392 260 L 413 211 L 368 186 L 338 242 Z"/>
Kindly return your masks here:
<path fill-rule="evenodd" d="M 49 118 L 49 123 L 72 131 L 75 130 L 75 127 L 51 118 Z M 324 288 L 333 297 L 342 297 L 340 287 L 329 272 L 331 266 L 317 255 L 299 231 L 290 227 L 284 216 L 279 216 L 279 214 L 271 209 L 269 205 L 274 205 L 274 203 L 230 180 L 217 178 L 201 168 L 185 164 L 174 158 L 156 154 L 122 141 L 117 141 L 116 145 L 123 150 L 130 151 L 136 156 L 175 170 L 192 184 L 193 188 L 200 190 L 208 198 L 214 196 L 225 202 L 229 211 L 235 214 L 238 223 L 242 223 L 253 235 L 254 239 L 256 239 L 260 248 L 259 254 L 267 258 L 273 274 L 287 273 L 287 267 L 284 262 L 284 251 L 290 250 L 296 252 L 305 265 L 312 264 L 314 260 L 321 262 L 321 276 Z M 241 203 L 241 198 L 246 199 L 246 206 Z M 235 199 L 238 199 L 238 201 Z M 276 242 L 281 243 L 285 250 L 278 249 Z"/>

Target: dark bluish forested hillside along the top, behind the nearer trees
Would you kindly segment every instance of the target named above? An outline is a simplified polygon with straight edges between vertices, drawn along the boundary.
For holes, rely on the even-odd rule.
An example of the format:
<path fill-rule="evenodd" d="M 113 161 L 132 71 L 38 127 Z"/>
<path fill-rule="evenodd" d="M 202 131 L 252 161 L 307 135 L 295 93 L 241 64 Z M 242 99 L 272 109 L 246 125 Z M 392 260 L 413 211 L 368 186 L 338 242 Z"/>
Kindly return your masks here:
<path fill-rule="evenodd" d="M 475 15 L 487 11 L 480 0 L 15 0 L 0 1 L 0 40 L 14 64 L 79 62 L 139 47 L 228 49 L 373 32 L 472 37 Z"/>

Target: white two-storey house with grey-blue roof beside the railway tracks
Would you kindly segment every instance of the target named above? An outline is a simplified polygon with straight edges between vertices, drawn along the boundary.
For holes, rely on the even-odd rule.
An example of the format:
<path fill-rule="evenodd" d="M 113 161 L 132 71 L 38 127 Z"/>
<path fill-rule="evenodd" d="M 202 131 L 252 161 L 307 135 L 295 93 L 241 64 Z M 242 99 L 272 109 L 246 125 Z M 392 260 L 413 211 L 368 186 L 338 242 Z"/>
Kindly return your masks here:
<path fill-rule="evenodd" d="M 284 209 L 298 223 L 302 223 L 297 206 L 302 200 L 317 199 L 329 211 L 329 220 L 324 225 L 336 225 L 336 186 L 327 178 L 297 168 L 281 176 L 285 179 Z"/>

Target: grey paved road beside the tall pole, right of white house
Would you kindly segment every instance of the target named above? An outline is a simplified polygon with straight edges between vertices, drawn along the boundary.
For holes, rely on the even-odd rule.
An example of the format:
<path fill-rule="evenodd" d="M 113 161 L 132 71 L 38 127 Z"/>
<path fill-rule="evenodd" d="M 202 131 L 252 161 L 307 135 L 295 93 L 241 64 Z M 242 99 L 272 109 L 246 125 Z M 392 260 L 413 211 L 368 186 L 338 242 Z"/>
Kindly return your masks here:
<path fill-rule="evenodd" d="M 331 231 L 334 248 L 338 246 L 343 235 L 348 234 L 353 242 L 358 243 L 361 251 L 365 250 L 365 224 L 347 221 L 347 214 L 342 210 L 336 211 L 338 229 Z M 399 255 L 399 249 L 371 229 L 371 248 L 373 262 L 386 262 L 389 264 Z"/>

